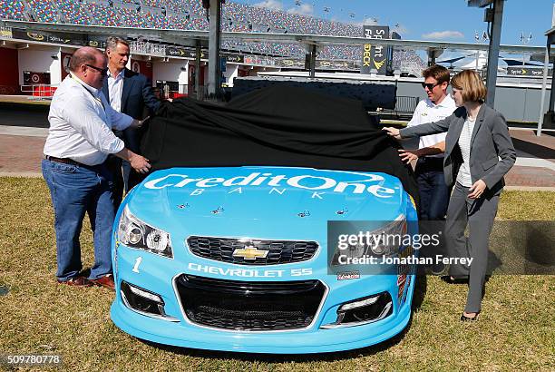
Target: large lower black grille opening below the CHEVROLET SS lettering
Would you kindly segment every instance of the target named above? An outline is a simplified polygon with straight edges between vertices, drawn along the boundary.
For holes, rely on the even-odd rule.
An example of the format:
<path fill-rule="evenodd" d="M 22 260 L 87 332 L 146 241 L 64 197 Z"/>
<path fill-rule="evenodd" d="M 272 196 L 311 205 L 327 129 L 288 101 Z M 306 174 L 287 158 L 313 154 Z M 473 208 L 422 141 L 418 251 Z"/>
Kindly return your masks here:
<path fill-rule="evenodd" d="M 246 331 L 308 327 L 326 287 L 319 280 L 238 281 L 181 275 L 181 305 L 192 323 Z"/>

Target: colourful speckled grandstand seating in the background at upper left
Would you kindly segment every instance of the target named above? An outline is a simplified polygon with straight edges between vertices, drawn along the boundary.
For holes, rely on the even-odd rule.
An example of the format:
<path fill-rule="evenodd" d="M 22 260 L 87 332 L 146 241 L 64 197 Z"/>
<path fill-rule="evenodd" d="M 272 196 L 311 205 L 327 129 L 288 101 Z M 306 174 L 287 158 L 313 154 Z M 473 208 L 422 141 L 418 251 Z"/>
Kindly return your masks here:
<path fill-rule="evenodd" d="M 99 24 L 139 28 L 208 30 L 209 23 L 200 0 L 0 0 L 0 18 Z M 362 26 L 327 21 L 307 15 L 294 15 L 259 6 L 227 1 L 222 5 L 223 31 L 273 32 L 288 34 L 329 34 L 361 36 Z M 257 54 L 304 58 L 299 44 L 222 41 L 222 47 Z M 360 60 L 362 46 L 326 45 L 318 57 L 329 60 Z M 395 51 L 394 67 L 407 65 L 418 70 L 422 59 L 412 51 Z"/>

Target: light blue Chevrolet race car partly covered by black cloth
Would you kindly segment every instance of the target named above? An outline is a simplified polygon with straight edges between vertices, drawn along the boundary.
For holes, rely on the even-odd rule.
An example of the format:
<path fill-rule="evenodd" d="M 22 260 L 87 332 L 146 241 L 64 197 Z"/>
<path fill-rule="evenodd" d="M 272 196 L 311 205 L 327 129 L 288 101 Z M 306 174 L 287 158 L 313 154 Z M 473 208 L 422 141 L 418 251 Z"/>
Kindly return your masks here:
<path fill-rule="evenodd" d="M 396 177 L 275 166 L 155 171 L 116 216 L 112 320 L 161 344 L 249 353 L 392 338 L 411 317 L 414 265 L 365 274 L 338 266 L 328 241 L 328 223 L 367 220 L 391 221 L 382 232 L 417 232 L 408 223 L 417 220 L 414 201 Z"/>

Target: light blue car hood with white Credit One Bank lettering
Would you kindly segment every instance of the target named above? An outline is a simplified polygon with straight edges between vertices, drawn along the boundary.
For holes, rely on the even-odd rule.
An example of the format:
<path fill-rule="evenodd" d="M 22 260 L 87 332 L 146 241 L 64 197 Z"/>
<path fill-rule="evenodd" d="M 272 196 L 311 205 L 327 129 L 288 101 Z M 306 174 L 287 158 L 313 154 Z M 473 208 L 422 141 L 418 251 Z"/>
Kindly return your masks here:
<path fill-rule="evenodd" d="M 131 191 L 130 210 L 179 220 L 394 220 L 401 182 L 385 173 L 291 167 L 171 168 Z"/>

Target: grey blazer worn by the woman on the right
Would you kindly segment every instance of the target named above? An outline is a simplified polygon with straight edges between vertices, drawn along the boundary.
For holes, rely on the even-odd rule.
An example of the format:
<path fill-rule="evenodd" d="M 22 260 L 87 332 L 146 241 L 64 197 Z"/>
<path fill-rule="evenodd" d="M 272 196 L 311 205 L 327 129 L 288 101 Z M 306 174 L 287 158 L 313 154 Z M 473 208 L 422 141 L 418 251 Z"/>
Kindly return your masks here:
<path fill-rule="evenodd" d="M 449 187 L 453 187 L 459 168 L 463 163 L 463 155 L 458 142 L 465 120 L 466 109 L 459 107 L 451 116 L 439 122 L 429 122 L 400 131 L 402 138 L 447 132 L 443 173 L 445 183 Z M 498 156 L 501 157 L 501 161 Z M 505 118 L 485 103 L 482 104 L 471 137 L 472 183 L 482 180 L 492 192 L 491 194 L 500 193 L 505 185 L 503 176 L 511 169 L 515 161 L 516 152 Z"/>

